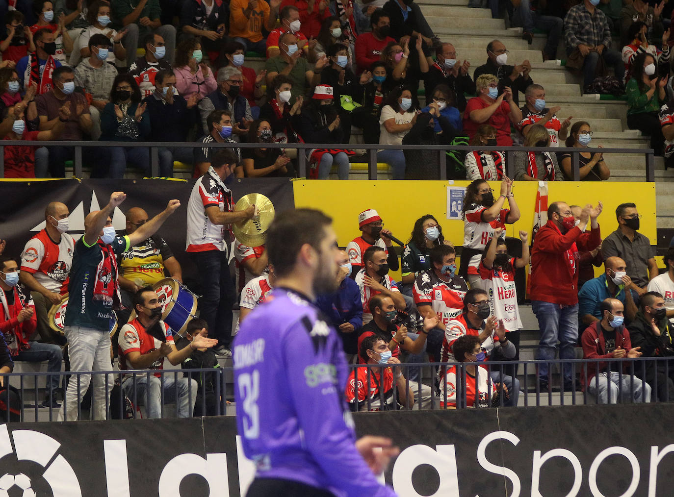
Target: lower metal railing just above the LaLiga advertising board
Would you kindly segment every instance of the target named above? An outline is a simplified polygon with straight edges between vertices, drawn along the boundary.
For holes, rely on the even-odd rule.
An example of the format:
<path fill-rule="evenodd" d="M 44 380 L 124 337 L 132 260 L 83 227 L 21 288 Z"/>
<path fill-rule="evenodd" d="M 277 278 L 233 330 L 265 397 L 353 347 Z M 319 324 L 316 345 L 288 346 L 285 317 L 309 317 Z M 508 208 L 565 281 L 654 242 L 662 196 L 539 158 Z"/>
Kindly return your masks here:
<path fill-rule="evenodd" d="M 670 364 L 671 362 L 671 364 Z M 472 382 L 469 377 L 470 374 L 466 370 L 466 366 L 477 365 L 481 368 L 489 368 L 489 372 L 494 375 L 492 378 L 490 374 L 487 378 L 487 391 L 481 392 L 479 382 Z M 549 387 L 547 389 L 541 388 L 537 370 L 539 366 L 546 365 L 549 370 Z M 443 372 L 446 368 L 456 368 L 456 384 L 450 385 L 443 381 Z M 614 388 L 605 389 L 605 392 L 600 392 L 600 389 L 584 388 L 576 389 L 574 385 L 567 387 L 563 383 L 563 375 L 557 372 L 557 369 L 562 370 L 563 367 L 568 367 L 571 378 L 574 378 L 574 383 L 577 378 L 587 378 L 588 373 L 601 371 L 604 366 L 609 366 L 615 369 Z M 483 363 L 404 363 L 400 364 L 400 370 L 404 376 L 404 391 L 412 391 L 412 402 L 404 403 L 400 401 L 398 387 L 396 387 L 394 377 L 394 387 L 390 396 L 385 397 L 384 391 L 377 388 L 374 395 L 365 395 L 371 391 L 371 387 L 379 387 L 382 382 L 381 374 L 384 368 L 390 366 L 384 364 L 357 364 L 350 366 L 351 374 L 355 374 L 359 378 L 359 372 L 363 374 L 365 370 L 365 381 L 359 385 L 359 381 L 355 382 L 357 388 L 363 389 L 361 401 L 354 401 L 350 403 L 353 411 L 378 411 L 378 410 L 396 410 L 396 409 L 443 409 L 448 406 L 442 405 L 447 401 L 449 407 L 464 408 L 464 407 L 500 407 L 507 404 L 505 399 L 512 398 L 513 395 L 519 395 L 520 402 L 517 405 L 522 407 L 534 407 L 541 405 L 578 405 L 586 403 L 615 403 L 617 401 L 637 401 L 637 402 L 669 402 L 674 401 L 670 399 L 670 389 L 674 390 L 674 358 L 630 358 L 630 359 L 576 359 L 576 360 L 535 360 L 535 361 L 501 361 L 501 362 L 483 362 Z M 439 371 L 439 374 L 437 372 Z M 652 378 L 647 376 L 651 371 Z M 425 373 L 425 374 L 422 374 Z M 670 374 L 672 377 L 670 378 Z M 197 383 L 187 381 L 182 382 L 179 387 L 179 378 L 187 377 L 195 378 L 195 375 L 210 375 L 212 380 L 212 389 L 207 387 L 208 384 L 202 381 L 200 385 Z M 384 373 L 386 374 L 390 373 Z M 392 370 L 392 374 L 396 374 Z M 410 374 L 418 374 L 418 378 L 410 380 Z M 10 405 L 10 407 L 20 409 L 20 420 L 32 421 L 28 419 L 28 414 L 32 415 L 35 421 L 40 418 L 48 418 L 49 421 L 55 421 L 59 418 L 59 411 L 63 409 L 65 412 L 69 410 L 67 399 L 62 401 L 61 407 L 40 407 L 40 398 L 44 395 L 44 381 L 47 376 L 51 376 L 49 372 L 18 372 L 9 373 L 4 376 L 5 385 L 7 381 L 9 384 L 16 385 L 16 390 L 20 395 L 20 406 Z M 144 391 L 144 383 L 149 383 L 151 377 L 159 375 L 158 381 L 162 395 L 160 395 L 160 405 L 158 405 L 158 413 L 155 417 L 164 418 L 166 416 L 173 417 L 177 415 L 178 406 L 176 409 L 171 408 L 171 411 L 166 409 L 166 405 L 178 402 L 181 395 L 187 396 L 187 404 L 189 404 L 189 411 L 187 416 L 193 415 L 193 409 L 197 408 L 204 414 L 214 416 L 225 416 L 233 413 L 231 406 L 228 412 L 228 399 L 233 400 L 233 368 L 208 368 L 208 369 L 177 369 L 177 370 L 133 370 L 121 372 L 119 370 L 109 370 L 102 372 L 60 372 L 63 383 L 67 383 L 69 376 L 75 375 L 75 385 L 78 386 L 78 405 L 77 418 L 87 419 L 88 410 L 94 412 L 96 409 L 96 401 L 94 395 L 91 396 L 91 409 L 83 405 L 85 398 L 80 397 L 79 387 L 82 381 L 82 376 L 92 375 L 92 385 L 94 377 L 104 381 L 105 385 L 105 409 L 107 419 L 123 419 L 123 418 L 138 418 L 147 417 L 148 409 L 150 408 L 146 401 L 146 394 Z M 606 374 L 600 373 L 601 382 L 607 381 Z M 506 376 L 514 376 L 520 381 L 520 388 L 518 392 L 508 393 L 505 389 L 505 383 L 508 383 Z M 102 378 L 100 378 L 102 377 Z M 389 376 L 390 377 L 390 376 Z M 439 380 L 439 381 L 438 381 Z M 623 381 L 624 380 L 624 381 Z M 645 387 L 646 380 L 650 381 L 650 385 Z M 662 385 L 662 382 L 667 382 L 667 385 Z M 120 385 L 121 384 L 123 385 Z M 168 386 L 171 383 L 171 386 Z M 468 383 L 474 390 L 468 389 Z M 186 384 L 186 385 L 185 385 Z M 498 385 L 495 385 L 498 384 Z M 608 385 L 608 384 L 607 384 Z M 601 385 L 600 385 L 601 386 Z M 166 388 L 164 388 L 166 387 Z M 664 388 L 662 388 L 664 387 Z M 468 391 L 474 392 L 468 395 Z M 663 392 L 662 394 L 660 392 Z M 0 395 L 0 405 L 7 405 L 9 402 L 5 394 L 7 390 Z M 201 394 L 201 395 L 199 395 Z M 484 395 L 481 395 L 484 394 Z M 199 399 L 197 400 L 197 395 Z M 617 395 L 617 397 L 616 397 Z M 449 398 L 448 398 L 449 396 Z M 28 397 L 33 397 L 34 405 L 28 403 Z M 168 401 L 168 397 L 173 397 L 175 402 Z M 359 396 L 356 395 L 356 399 Z M 483 406 L 475 406 L 475 400 L 483 401 Z M 451 404 L 451 405 L 450 405 Z M 28 405 L 29 407 L 26 407 Z M 144 407 L 144 413 L 140 407 Z M 47 414 L 42 416 L 41 413 Z M 9 422 L 9 410 L 2 413 L 0 422 Z"/>

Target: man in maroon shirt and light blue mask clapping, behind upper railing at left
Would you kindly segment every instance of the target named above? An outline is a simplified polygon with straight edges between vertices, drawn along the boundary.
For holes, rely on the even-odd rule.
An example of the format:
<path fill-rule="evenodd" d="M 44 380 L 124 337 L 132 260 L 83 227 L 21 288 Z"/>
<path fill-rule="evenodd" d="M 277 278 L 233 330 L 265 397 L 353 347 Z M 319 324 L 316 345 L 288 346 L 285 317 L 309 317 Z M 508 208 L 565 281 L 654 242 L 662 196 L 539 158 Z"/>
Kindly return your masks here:
<path fill-rule="evenodd" d="M 45 69 L 46 71 L 46 69 Z M 38 95 L 35 98 L 36 112 L 40 116 L 40 131 L 53 129 L 57 121 L 63 123 L 63 130 L 59 135 L 62 141 L 82 141 L 84 133 L 90 133 L 93 127 L 89 104 L 84 94 L 75 93 L 75 73 L 67 66 L 57 67 L 51 75 L 53 88 L 50 92 Z M 69 103 L 70 116 L 65 118 L 61 113 L 64 104 Z M 33 104 L 31 103 L 30 106 Z M 30 112 L 30 107 L 29 107 Z M 65 119 L 65 121 L 63 121 Z M 72 160 L 75 155 L 73 147 L 42 147 L 36 152 L 36 170 L 46 171 L 52 178 L 65 177 L 65 161 Z M 98 154 L 90 147 L 82 147 L 82 160 L 88 164 L 98 164 Z M 94 167 L 94 176 L 102 177 L 104 173 L 100 167 Z"/>

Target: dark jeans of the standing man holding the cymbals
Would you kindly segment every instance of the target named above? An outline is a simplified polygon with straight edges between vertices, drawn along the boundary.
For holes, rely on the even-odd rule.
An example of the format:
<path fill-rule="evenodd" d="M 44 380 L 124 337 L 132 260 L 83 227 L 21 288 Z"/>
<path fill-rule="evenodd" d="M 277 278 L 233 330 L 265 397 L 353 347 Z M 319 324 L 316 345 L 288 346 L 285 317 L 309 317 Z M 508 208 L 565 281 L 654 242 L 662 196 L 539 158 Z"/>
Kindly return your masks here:
<path fill-rule="evenodd" d="M 199 302 L 200 317 L 208 323 L 208 335 L 218 345 L 229 348 L 232 342 L 232 306 L 237 300 L 234 280 L 229 274 L 227 253 L 221 251 L 192 252 L 202 284 Z"/>

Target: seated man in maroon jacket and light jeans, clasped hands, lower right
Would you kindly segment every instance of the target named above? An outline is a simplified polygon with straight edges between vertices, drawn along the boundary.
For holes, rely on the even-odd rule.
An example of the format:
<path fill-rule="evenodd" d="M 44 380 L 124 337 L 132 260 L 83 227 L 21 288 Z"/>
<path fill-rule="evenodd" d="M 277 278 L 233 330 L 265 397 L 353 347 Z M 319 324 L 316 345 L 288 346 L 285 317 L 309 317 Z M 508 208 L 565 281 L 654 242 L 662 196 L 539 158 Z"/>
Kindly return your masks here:
<path fill-rule="evenodd" d="M 624 319 L 622 302 L 617 298 L 606 298 L 601 302 L 601 321 L 597 320 L 587 327 L 581 338 L 583 359 L 588 359 L 580 371 L 581 382 L 600 404 L 650 402 L 650 385 L 643 379 L 630 376 L 630 369 L 625 367 L 627 364 L 601 361 L 642 356 L 641 347 L 632 347 Z M 637 374 L 639 366 L 636 366 Z"/>

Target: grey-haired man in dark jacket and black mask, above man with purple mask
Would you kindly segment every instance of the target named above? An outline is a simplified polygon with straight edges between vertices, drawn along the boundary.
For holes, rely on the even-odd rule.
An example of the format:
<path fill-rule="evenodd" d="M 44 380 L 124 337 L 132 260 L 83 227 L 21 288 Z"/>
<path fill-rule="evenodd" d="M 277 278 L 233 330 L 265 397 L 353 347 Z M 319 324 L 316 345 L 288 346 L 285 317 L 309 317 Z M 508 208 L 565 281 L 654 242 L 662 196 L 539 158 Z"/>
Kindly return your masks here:
<path fill-rule="evenodd" d="M 204 133 L 210 131 L 206 124 L 208 115 L 214 110 L 227 110 L 233 114 L 232 135 L 235 141 L 245 139 L 249 125 L 253 121 L 253 115 L 247 98 L 241 95 L 241 84 L 243 84 L 243 75 L 237 67 L 226 66 L 218 70 L 216 88 L 199 102 Z"/>

